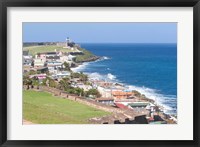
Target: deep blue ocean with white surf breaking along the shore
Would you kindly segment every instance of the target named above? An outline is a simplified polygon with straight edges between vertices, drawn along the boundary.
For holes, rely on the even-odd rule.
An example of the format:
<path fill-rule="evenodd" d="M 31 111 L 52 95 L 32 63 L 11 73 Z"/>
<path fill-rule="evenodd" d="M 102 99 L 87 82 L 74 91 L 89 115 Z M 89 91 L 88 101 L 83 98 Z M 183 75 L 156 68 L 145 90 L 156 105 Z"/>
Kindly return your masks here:
<path fill-rule="evenodd" d="M 177 45 L 81 43 L 102 58 L 73 69 L 90 78 L 119 82 L 154 99 L 169 114 L 177 113 Z"/>

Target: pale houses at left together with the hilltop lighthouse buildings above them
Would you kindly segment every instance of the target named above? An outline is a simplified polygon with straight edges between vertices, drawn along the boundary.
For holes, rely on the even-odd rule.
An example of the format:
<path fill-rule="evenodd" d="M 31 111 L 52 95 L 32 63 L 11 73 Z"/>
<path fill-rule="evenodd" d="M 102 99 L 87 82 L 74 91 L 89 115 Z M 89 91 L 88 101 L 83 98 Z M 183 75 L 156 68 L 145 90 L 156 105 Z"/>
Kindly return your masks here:
<path fill-rule="evenodd" d="M 69 38 L 66 42 L 59 42 L 57 46 L 63 46 L 66 52 L 55 51 L 53 52 L 41 52 L 37 53 L 34 57 L 29 54 L 29 51 L 23 51 L 23 72 L 26 73 L 30 70 L 39 71 L 40 73 L 50 73 L 52 78 L 63 78 L 68 76 L 70 73 L 67 71 L 62 71 L 64 68 L 64 62 L 68 63 L 70 67 L 75 66 L 76 55 L 83 54 L 82 51 L 78 49 L 78 45 L 70 41 Z M 45 78 L 45 74 L 35 75 L 39 79 Z"/>

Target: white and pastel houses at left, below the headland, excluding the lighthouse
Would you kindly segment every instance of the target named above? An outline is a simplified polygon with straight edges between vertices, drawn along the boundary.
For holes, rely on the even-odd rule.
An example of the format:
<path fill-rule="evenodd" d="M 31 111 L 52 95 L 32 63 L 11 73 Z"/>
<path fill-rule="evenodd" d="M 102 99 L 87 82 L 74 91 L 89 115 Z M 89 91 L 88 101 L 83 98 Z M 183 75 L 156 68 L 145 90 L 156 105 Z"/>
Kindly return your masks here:
<path fill-rule="evenodd" d="M 24 72 L 34 70 L 45 73 L 48 71 L 62 78 L 69 74 L 60 72 L 64 68 L 63 63 L 67 62 L 70 66 L 73 66 L 75 57 L 70 53 L 57 52 L 56 50 L 55 52 L 38 53 L 33 57 L 29 55 L 28 51 L 23 51 L 23 69 Z"/>

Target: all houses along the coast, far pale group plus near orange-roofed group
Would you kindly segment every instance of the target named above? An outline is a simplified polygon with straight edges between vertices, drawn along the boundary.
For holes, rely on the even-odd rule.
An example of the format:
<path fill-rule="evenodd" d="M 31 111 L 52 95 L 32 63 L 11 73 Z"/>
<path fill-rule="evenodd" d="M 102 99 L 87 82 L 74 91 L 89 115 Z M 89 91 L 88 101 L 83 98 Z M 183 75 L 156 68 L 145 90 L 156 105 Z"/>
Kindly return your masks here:
<path fill-rule="evenodd" d="M 59 43 L 57 45 L 63 46 L 64 44 Z M 30 70 L 40 71 L 40 74 L 31 75 L 31 78 L 37 77 L 39 80 L 47 77 L 47 71 L 52 79 L 62 79 L 70 76 L 69 71 L 62 70 L 65 68 L 64 63 L 66 62 L 70 67 L 73 67 L 76 55 L 80 55 L 82 52 L 74 47 L 74 44 L 69 44 L 69 40 L 67 40 L 64 48 L 71 49 L 71 52 L 62 52 L 55 49 L 54 52 L 38 53 L 33 57 L 28 51 L 23 51 L 23 72 L 26 73 Z M 97 89 L 101 97 L 94 100 L 99 103 L 123 109 L 133 109 L 134 111 L 148 110 L 150 112 L 149 119 L 153 118 L 153 114 L 158 108 L 154 103 L 141 100 L 134 91 L 129 90 L 123 84 L 98 79 L 89 79 L 90 84 L 85 84 L 76 78 L 71 80 L 72 87 L 78 87 L 84 91 Z"/>

